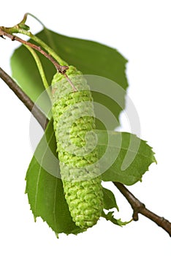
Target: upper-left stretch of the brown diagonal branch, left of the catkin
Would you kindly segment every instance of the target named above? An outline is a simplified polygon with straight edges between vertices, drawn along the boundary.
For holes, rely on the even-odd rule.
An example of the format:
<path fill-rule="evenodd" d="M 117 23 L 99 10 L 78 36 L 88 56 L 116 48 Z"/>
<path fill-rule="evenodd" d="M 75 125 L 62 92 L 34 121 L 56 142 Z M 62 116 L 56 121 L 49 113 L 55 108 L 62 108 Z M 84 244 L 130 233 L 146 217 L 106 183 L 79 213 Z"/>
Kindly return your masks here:
<path fill-rule="evenodd" d="M 30 110 L 33 116 L 37 119 L 39 124 L 42 126 L 42 129 L 45 129 L 48 123 L 48 120 L 44 113 L 37 107 L 37 105 L 32 102 L 32 100 L 25 94 L 25 92 L 20 89 L 17 83 L 9 76 L 3 69 L 0 67 L 0 78 L 9 86 L 9 88 L 17 95 L 20 101 L 26 105 L 26 108 Z"/>

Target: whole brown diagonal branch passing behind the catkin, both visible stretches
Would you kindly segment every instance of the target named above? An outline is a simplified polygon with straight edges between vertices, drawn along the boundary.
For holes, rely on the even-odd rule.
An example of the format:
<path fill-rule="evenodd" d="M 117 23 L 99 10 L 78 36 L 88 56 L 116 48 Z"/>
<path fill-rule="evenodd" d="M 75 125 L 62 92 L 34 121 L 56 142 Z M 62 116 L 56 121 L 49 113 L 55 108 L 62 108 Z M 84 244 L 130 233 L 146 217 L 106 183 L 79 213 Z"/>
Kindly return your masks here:
<path fill-rule="evenodd" d="M 12 80 L 12 78 L 10 78 L 9 75 L 7 75 L 7 73 L 4 72 L 4 70 L 1 68 L 0 78 L 4 80 L 5 83 L 7 83 L 7 86 L 9 86 L 12 91 L 14 91 L 17 97 L 23 102 L 24 105 L 26 105 L 28 110 L 30 110 L 34 117 L 37 118 L 37 121 L 39 121 L 39 124 L 42 126 L 42 128 L 45 129 L 48 123 L 48 119 L 44 113 L 42 113 L 42 111 L 34 105 L 34 102 L 31 101 L 31 99 L 22 91 L 22 89 L 20 89 L 15 81 Z M 140 200 L 138 200 L 123 184 L 118 182 L 113 182 L 113 184 L 115 184 L 115 187 L 118 188 L 121 194 L 126 197 L 126 200 L 128 200 L 129 204 L 132 206 L 132 218 L 134 221 L 138 220 L 138 214 L 142 214 L 143 216 L 155 222 L 156 225 L 159 225 L 159 227 L 163 228 L 171 236 L 171 222 L 169 222 L 167 219 L 164 219 L 164 217 L 159 217 L 152 211 L 148 210 L 148 208 L 145 207 L 145 204 L 141 203 Z"/>

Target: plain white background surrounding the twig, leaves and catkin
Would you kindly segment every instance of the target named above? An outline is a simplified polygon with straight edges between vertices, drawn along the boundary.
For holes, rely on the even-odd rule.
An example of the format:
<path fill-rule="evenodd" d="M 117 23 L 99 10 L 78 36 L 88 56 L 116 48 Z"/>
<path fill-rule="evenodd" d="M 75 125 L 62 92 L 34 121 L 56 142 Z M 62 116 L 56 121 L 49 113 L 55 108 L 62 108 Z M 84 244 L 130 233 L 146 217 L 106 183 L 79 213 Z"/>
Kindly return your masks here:
<path fill-rule="evenodd" d="M 141 138 L 156 152 L 142 183 L 129 189 L 160 216 L 171 220 L 170 207 L 170 1 L 1 1 L 0 26 L 13 26 L 25 12 L 47 28 L 72 37 L 92 39 L 117 48 L 126 59 L 128 94 L 141 122 Z M 41 27 L 29 18 L 32 31 Z M 17 42 L 0 39 L 0 66 L 11 72 L 9 59 Z M 0 80 L 0 233 L 1 255 L 171 255 L 164 230 L 140 216 L 139 222 L 117 227 L 100 219 L 78 236 L 56 238 L 40 218 L 34 223 L 25 191 L 25 175 L 32 157 L 30 113 Z M 124 115 L 122 130 L 129 131 Z M 113 186 L 124 220 L 132 209 Z"/>

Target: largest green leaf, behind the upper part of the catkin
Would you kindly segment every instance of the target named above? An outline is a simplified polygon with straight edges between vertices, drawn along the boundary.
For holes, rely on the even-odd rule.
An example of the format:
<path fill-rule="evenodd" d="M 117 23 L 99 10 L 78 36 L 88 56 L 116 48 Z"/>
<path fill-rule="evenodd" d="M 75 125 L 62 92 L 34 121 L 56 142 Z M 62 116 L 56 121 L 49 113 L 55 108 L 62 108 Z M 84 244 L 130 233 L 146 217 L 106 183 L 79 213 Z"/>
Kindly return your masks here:
<path fill-rule="evenodd" d="M 125 74 L 126 59 L 124 59 L 117 50 L 106 45 L 84 39 L 66 37 L 48 29 L 39 32 L 37 37 L 53 48 L 64 61 L 77 67 L 83 74 L 102 76 L 113 80 L 121 86 L 123 93 L 118 95 L 121 105 L 118 105 L 118 103 L 109 96 L 93 91 L 94 101 L 101 103 L 111 110 L 117 120 L 113 124 L 113 127 L 111 125 L 111 129 L 118 126 L 118 116 L 119 113 L 121 113 L 121 110 L 124 109 L 126 88 L 128 86 Z M 45 69 L 47 82 L 50 85 L 56 69 L 44 56 L 39 53 L 37 54 Z M 39 95 L 44 91 L 44 86 L 35 61 L 24 46 L 15 50 L 11 58 L 11 67 L 13 78 L 18 81 L 19 86 L 26 92 L 28 97 L 36 102 Z M 98 83 L 98 80 L 94 83 Z M 113 83 L 113 94 L 118 93 L 115 88 L 115 83 Z M 103 85 L 106 90 L 107 86 L 107 84 Z M 46 114 L 48 113 L 48 110 L 50 109 L 50 101 L 46 94 L 39 100 L 37 105 L 39 105 Z M 96 127 L 104 129 L 100 121 L 97 121 Z"/>

